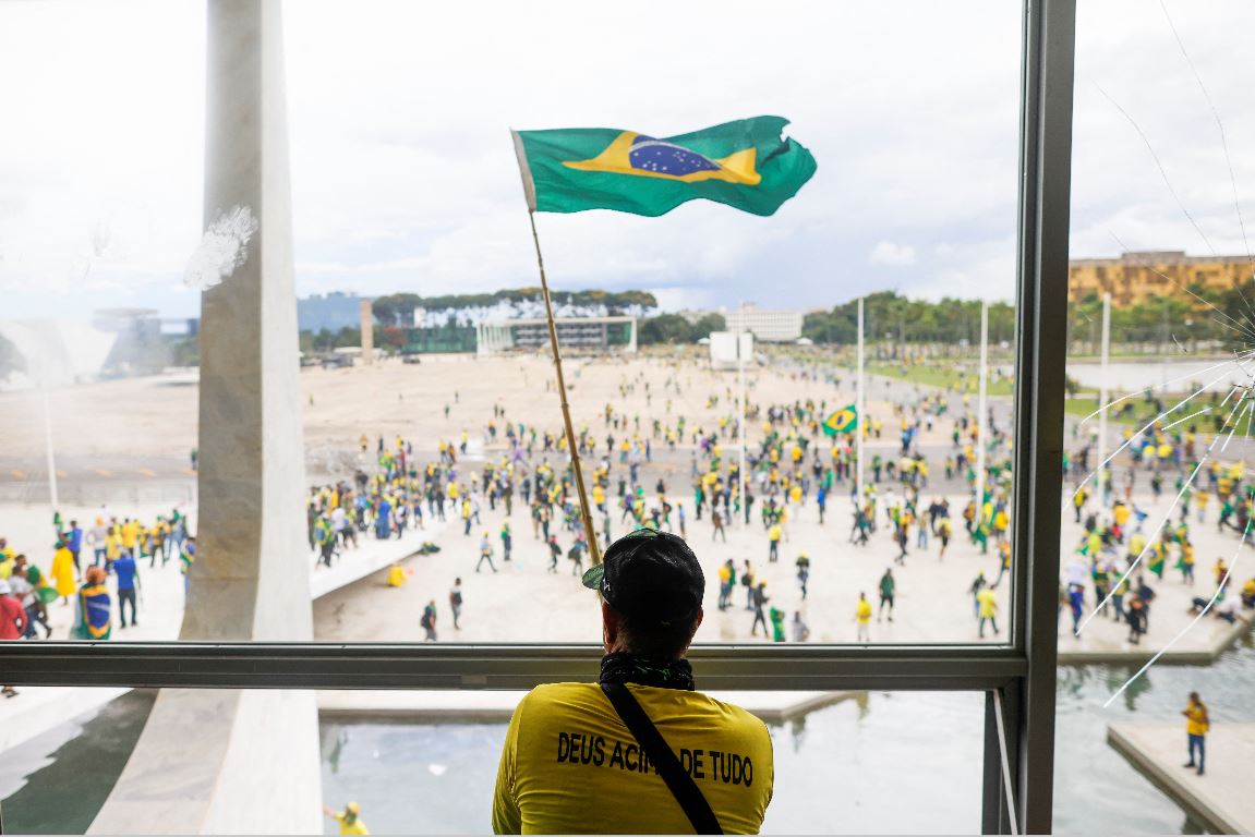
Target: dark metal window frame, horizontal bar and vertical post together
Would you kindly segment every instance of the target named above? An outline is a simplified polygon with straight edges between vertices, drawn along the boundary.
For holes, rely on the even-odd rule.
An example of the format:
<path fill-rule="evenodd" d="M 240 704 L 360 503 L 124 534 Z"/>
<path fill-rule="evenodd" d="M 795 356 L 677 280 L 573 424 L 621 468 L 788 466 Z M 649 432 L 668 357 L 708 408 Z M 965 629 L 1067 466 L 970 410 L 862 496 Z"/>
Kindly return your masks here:
<path fill-rule="evenodd" d="M 1024 0 L 1022 14 L 1010 642 L 690 654 L 704 689 L 985 691 L 985 833 L 1010 833 L 995 690 L 1020 828 L 1050 832 L 1053 807 L 1076 0 Z M 586 680 L 600 654 L 594 644 L 4 642 L 0 671 L 29 686 L 528 689 Z"/>

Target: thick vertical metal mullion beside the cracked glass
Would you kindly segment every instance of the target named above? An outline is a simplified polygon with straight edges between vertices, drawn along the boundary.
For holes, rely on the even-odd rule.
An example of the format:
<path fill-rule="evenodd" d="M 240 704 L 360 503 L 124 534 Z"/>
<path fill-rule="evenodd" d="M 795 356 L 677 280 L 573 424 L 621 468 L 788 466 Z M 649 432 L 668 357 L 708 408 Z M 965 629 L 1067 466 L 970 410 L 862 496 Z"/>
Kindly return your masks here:
<path fill-rule="evenodd" d="M 1048 833 L 1053 809 L 1074 35 L 1076 0 L 1027 0 L 1012 636 L 1028 671 L 1004 693 L 1025 833 Z"/>

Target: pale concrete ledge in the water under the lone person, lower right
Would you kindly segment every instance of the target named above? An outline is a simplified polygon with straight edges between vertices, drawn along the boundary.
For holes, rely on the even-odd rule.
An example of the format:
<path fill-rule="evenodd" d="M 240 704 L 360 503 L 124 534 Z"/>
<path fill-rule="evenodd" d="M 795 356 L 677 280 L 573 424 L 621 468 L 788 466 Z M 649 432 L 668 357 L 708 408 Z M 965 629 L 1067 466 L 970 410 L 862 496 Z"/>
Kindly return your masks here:
<path fill-rule="evenodd" d="M 1107 743 L 1138 773 L 1219 834 L 1255 832 L 1255 724 L 1214 724 L 1207 735 L 1207 773 L 1182 767 L 1185 723 L 1112 724 Z"/>

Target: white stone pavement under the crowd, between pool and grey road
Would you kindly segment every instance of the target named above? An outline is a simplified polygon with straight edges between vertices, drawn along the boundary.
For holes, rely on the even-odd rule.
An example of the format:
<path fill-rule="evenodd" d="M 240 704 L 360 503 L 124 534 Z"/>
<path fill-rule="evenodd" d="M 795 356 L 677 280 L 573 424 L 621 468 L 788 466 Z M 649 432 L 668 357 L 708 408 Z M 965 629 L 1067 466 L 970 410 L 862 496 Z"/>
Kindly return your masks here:
<path fill-rule="evenodd" d="M 961 497 L 951 497 L 951 507 L 961 504 Z M 1142 502 L 1140 499 L 1140 502 Z M 1153 526 L 1166 511 L 1167 499 L 1158 506 L 1145 503 L 1150 513 L 1147 525 Z M 767 562 L 766 536 L 761 526 L 729 527 L 728 541 L 709 540 L 708 521 L 689 521 L 688 536 L 703 561 L 708 576 L 707 617 L 698 632 L 704 642 L 761 642 L 762 631 L 750 634 L 753 615 L 744 610 L 744 587 L 734 591 L 733 607 L 717 607 L 715 568 L 730 557 L 738 572 L 749 558 L 761 578 L 768 581 L 771 604 L 781 607 L 792 619 L 794 611 L 803 614 L 811 627 L 812 642 L 853 642 L 856 626 L 853 609 L 860 591 L 866 591 L 875 601 L 877 581 L 886 567 L 894 566 L 896 550 L 889 543 L 887 533 L 873 536 L 867 547 L 852 547 L 847 540 L 848 513 L 842 502 L 835 501 L 835 509 L 821 526 L 817 509 L 803 507 L 791 526 L 789 540 L 781 547 L 781 560 Z M 836 511 L 840 509 L 840 511 Z M 90 520 L 97 509 L 69 509 L 70 516 Z M 138 513 L 152 517 L 168 511 L 162 507 L 117 509 L 115 513 Z M 1211 509 L 1212 512 L 1215 509 Z M 40 543 L 49 538 L 50 521 L 43 512 L 25 507 L 0 509 L 4 531 L 20 548 L 24 543 Z M 358 551 L 350 551 L 345 560 L 331 571 L 311 571 L 311 595 L 316 597 L 315 635 L 321 641 L 420 641 L 423 631 L 419 615 L 428 601 L 435 601 L 439 617 L 441 641 L 464 642 L 517 642 L 562 641 L 587 642 L 600 637 L 596 597 L 580 586 L 571 573 L 571 565 L 563 557 L 557 573 L 547 571 L 548 555 L 541 541 L 532 537 L 530 520 L 521 508 L 511 517 L 515 531 L 515 555 L 510 563 L 501 561 L 497 532 L 505 514 L 484 511 L 483 521 L 473 528 L 472 536 L 462 535 L 459 522 L 447 526 L 428 522 L 425 531 L 412 531 L 405 541 L 380 543 L 363 538 Z M 1067 563 L 1072 547 L 1079 537 L 1079 527 L 1072 516 L 1063 518 L 1063 561 Z M 614 535 L 621 535 L 617 517 Z M 1155 605 L 1150 634 L 1140 646 L 1126 641 L 1127 629 L 1106 616 L 1098 616 L 1081 637 L 1071 634 L 1069 620 L 1060 619 L 1059 641 L 1062 663 L 1124 661 L 1140 663 L 1148 654 L 1163 648 L 1191 617 L 1186 614 L 1195 595 L 1210 596 L 1211 565 L 1224 556 L 1235 563 L 1236 537 L 1219 535 L 1214 521 L 1194 525 L 1194 537 L 1199 550 L 1199 581 L 1194 589 L 1180 581 L 1180 573 L 1168 571 L 1165 581 L 1155 585 L 1160 599 Z M 474 572 L 479 536 L 488 531 L 497 548 L 497 567 L 492 573 L 484 568 Z M 432 540 L 442 551 L 429 556 L 413 556 L 423 540 Z M 569 537 L 563 535 L 569 542 Z M 894 621 L 875 621 L 871 625 L 872 642 L 976 642 L 981 641 L 973 616 L 973 602 L 968 587 L 978 571 L 989 578 L 996 577 L 993 555 L 981 556 L 960 537 L 951 543 L 944 560 L 937 557 L 937 542 L 926 551 L 915 545 L 905 566 L 894 566 L 897 577 L 897 606 Z M 808 596 L 803 601 L 796 581 L 793 561 L 806 551 L 812 560 Z M 394 589 L 384 584 L 387 567 L 397 558 L 413 570 L 409 582 Z M 310 566 L 314 558 L 310 557 Z M 46 566 L 44 567 L 46 570 Z M 1236 584 L 1255 573 L 1255 563 L 1245 553 L 1237 553 Z M 452 626 L 448 611 L 448 589 L 453 578 L 461 576 L 464 586 L 464 607 L 461 630 Z M 115 631 L 114 640 L 164 641 L 178 634 L 182 619 L 182 577 L 176 562 L 156 570 L 141 571 L 143 601 L 141 624 Z M 999 602 L 1007 609 L 1009 585 L 1004 580 L 999 587 Z M 1091 606 L 1093 601 L 1088 602 Z M 73 609 L 54 604 L 50 607 L 54 639 L 68 634 Z M 1004 619 L 1000 626 L 1005 629 Z M 1246 626 L 1230 626 L 1206 617 L 1191 627 L 1161 663 L 1209 661 L 1232 642 Z M 984 642 L 1005 640 L 988 635 Z M 46 729 L 59 718 L 70 718 L 99 705 L 115 693 L 107 689 L 23 689 L 20 698 L 0 703 L 0 750 L 24 740 L 30 730 Z"/>

